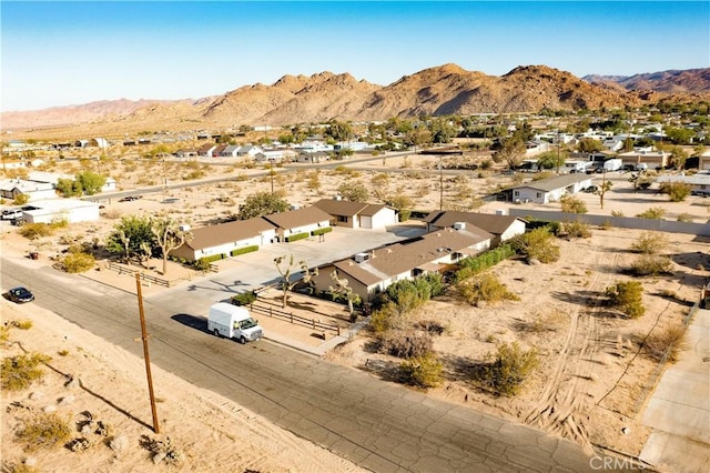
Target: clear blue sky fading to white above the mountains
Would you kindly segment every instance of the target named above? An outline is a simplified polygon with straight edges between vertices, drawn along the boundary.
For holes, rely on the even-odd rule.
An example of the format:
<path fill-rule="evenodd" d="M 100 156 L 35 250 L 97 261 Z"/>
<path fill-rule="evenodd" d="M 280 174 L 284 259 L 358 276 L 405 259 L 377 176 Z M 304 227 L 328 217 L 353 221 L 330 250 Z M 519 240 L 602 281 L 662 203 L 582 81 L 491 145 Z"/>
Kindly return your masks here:
<path fill-rule="evenodd" d="M 710 67 L 706 1 L 2 1 L 0 110 L 222 94 L 285 74 L 381 85 L 456 63 L 582 77 Z"/>

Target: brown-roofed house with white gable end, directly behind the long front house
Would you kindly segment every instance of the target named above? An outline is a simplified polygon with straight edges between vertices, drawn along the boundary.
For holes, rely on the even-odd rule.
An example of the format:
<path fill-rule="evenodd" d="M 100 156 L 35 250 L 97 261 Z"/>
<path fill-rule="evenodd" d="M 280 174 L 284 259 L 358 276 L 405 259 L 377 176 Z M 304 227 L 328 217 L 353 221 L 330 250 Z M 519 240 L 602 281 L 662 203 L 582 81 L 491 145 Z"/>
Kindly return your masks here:
<path fill-rule="evenodd" d="M 424 219 L 427 232 L 447 228 L 468 228 L 475 225 L 493 235 L 490 245 L 500 243 L 525 233 L 525 220 L 519 217 L 499 215 L 495 213 L 456 212 L 453 210 L 435 210 Z"/>

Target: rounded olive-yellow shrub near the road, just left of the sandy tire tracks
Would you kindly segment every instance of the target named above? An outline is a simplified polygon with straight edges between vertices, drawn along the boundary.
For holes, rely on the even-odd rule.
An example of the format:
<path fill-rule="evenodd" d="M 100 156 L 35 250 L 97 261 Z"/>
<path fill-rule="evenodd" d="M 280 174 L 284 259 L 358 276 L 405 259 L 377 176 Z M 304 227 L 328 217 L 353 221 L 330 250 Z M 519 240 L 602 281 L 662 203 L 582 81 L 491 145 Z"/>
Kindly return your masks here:
<path fill-rule="evenodd" d="M 518 394 L 527 376 L 539 363 L 535 349 L 525 351 L 516 342 L 498 345 L 493 358 L 493 362 L 474 373 L 474 380 L 505 396 Z"/>

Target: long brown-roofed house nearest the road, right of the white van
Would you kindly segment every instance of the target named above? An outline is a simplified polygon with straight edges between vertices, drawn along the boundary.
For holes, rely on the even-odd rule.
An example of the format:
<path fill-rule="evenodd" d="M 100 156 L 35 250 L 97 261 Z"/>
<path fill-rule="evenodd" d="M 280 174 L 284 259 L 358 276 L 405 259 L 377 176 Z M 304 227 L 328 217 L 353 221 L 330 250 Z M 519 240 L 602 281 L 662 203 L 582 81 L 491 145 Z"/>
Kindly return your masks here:
<path fill-rule="evenodd" d="M 313 278 L 316 293 L 333 285 L 331 274 L 346 279 L 363 302 L 372 302 L 390 284 L 438 272 L 449 264 L 490 248 L 491 235 L 483 230 L 443 229 L 387 246 L 357 253 L 347 260 L 324 264 Z"/>

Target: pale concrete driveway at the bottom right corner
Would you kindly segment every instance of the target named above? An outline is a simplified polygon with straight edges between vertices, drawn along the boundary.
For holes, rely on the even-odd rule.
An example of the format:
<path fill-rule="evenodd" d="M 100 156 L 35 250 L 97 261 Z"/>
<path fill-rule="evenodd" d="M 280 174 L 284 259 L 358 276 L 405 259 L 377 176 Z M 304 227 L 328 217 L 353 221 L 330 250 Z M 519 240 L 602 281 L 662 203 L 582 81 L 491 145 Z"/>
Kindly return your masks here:
<path fill-rule="evenodd" d="M 653 427 L 640 459 L 661 471 L 710 471 L 710 310 L 686 334 L 688 350 L 661 378 L 643 412 Z"/>

